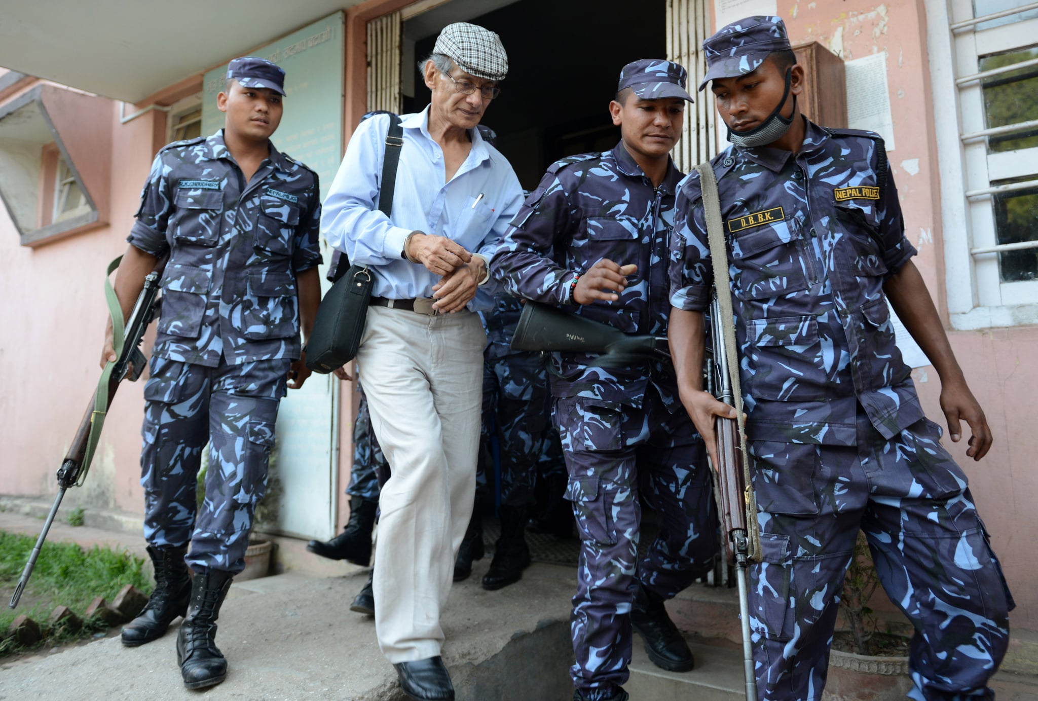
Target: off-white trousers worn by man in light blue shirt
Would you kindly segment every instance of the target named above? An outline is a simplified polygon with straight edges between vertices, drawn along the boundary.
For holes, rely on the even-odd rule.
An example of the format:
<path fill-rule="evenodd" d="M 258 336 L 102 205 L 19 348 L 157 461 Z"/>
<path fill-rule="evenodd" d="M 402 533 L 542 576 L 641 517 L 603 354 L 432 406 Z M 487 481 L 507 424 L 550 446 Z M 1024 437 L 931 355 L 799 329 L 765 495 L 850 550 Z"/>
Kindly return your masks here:
<path fill-rule="evenodd" d="M 475 493 L 486 334 L 472 312 L 373 306 L 357 353 L 392 473 L 375 548 L 375 629 L 390 663 L 440 654 L 440 609 Z"/>

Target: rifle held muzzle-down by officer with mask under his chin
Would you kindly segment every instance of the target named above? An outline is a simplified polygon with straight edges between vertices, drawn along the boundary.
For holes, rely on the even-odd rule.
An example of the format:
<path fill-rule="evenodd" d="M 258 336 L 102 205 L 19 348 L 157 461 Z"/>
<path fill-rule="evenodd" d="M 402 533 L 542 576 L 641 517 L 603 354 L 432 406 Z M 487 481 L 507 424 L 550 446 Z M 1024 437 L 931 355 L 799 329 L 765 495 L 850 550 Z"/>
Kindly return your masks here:
<path fill-rule="evenodd" d="M 712 359 L 707 360 L 707 392 L 719 402 L 736 406 L 729 373 L 729 354 L 721 328 L 720 304 L 714 295 L 710 304 Z M 736 370 L 738 372 L 738 369 Z M 741 408 L 740 408 L 741 411 Z M 714 468 L 714 496 L 720 518 L 721 539 L 728 564 L 735 567 L 739 588 L 739 619 L 742 627 L 742 664 L 746 699 L 757 701 L 757 676 L 749 639 L 749 593 L 746 571 L 750 562 L 760 562 L 761 533 L 757 521 L 757 497 L 746 470 L 746 456 L 740 441 L 738 421 L 716 416 L 714 440 L 717 463 Z"/>

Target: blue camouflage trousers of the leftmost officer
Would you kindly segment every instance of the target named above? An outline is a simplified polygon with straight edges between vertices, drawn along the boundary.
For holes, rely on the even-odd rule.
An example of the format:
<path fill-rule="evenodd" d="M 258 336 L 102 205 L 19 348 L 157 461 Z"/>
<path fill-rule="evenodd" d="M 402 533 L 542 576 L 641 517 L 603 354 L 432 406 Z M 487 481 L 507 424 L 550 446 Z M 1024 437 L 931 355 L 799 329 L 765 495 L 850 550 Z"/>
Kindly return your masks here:
<path fill-rule="evenodd" d="M 217 368 L 153 357 L 144 384 L 144 538 L 191 543 L 188 565 L 240 572 L 252 516 L 267 486 L 277 407 L 292 360 Z M 201 451 L 210 443 L 206 498 L 196 512 Z"/>

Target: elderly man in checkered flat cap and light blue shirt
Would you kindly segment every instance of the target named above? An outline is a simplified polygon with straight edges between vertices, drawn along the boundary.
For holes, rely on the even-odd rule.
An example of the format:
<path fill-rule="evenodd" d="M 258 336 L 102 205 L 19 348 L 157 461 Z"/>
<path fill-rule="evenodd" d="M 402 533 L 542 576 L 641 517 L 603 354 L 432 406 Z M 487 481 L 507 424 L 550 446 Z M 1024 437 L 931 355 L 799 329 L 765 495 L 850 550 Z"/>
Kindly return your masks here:
<path fill-rule="evenodd" d="M 373 581 L 379 645 L 408 696 L 453 699 L 439 619 L 475 491 L 486 343 L 475 312 L 490 308 L 488 259 L 522 205 L 522 189 L 476 129 L 509 68 L 497 34 L 448 25 L 419 68 L 432 104 L 399 117 L 400 140 L 387 141 L 395 115 L 360 124 L 321 228 L 374 277 L 357 365 L 392 467 Z M 386 149 L 395 147 L 386 216 L 379 181 Z"/>

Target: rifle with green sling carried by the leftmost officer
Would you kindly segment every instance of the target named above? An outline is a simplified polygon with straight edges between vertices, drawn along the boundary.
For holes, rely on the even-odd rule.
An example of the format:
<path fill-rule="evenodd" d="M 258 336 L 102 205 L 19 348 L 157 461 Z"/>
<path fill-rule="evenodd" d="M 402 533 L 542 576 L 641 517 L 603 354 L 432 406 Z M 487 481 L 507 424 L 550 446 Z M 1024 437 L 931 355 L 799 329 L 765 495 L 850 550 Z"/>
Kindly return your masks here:
<path fill-rule="evenodd" d="M 44 541 L 47 540 L 47 534 L 51 530 L 51 523 L 54 522 L 54 517 L 58 513 L 58 507 L 61 506 L 61 500 L 64 498 L 65 491 L 70 487 L 81 486 L 86 479 L 86 474 L 90 469 L 90 461 L 93 459 L 93 451 L 97 449 L 98 439 L 101 437 L 101 428 L 105 424 L 105 414 L 108 413 L 108 407 L 111 406 L 112 400 L 115 398 L 115 392 L 118 389 L 119 382 L 124 378 L 129 378 L 131 382 L 135 382 L 147 363 L 147 358 L 144 357 L 138 346 L 140 346 L 140 342 L 144 338 L 147 325 L 152 323 L 152 319 L 156 316 L 156 294 L 159 291 L 159 275 L 162 272 L 163 266 L 160 264 L 156 270 L 149 272 L 144 278 L 144 289 L 141 290 L 140 295 L 137 297 L 137 302 L 130 314 L 130 322 L 124 325 L 122 308 L 119 305 L 118 298 L 115 296 L 115 291 L 112 290 L 111 282 L 108 280 L 108 276 L 118 267 L 121 260 L 122 257 L 120 255 L 112 261 L 108 266 L 108 272 L 105 274 L 105 297 L 108 301 L 108 313 L 112 318 L 112 339 L 114 340 L 114 350 L 117 359 L 114 362 L 109 360 L 105 366 L 105 370 L 101 373 L 98 388 L 86 407 L 86 413 L 83 414 L 83 421 L 79 424 L 79 429 L 76 431 L 76 437 L 73 438 L 72 447 L 69 449 L 69 453 L 65 454 L 64 460 L 61 461 L 61 466 L 58 467 L 58 495 L 54 500 L 54 506 L 51 507 L 51 512 L 48 514 L 47 520 L 44 521 L 44 530 L 40 532 L 39 538 L 36 539 L 36 545 L 29 555 L 29 561 L 25 563 L 25 569 L 22 570 L 22 577 L 18 581 L 15 594 L 10 597 L 8 605 L 11 609 L 18 605 L 18 600 L 22 597 L 22 591 L 32 575 L 32 569 L 36 566 L 39 550 L 44 546 Z"/>

